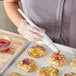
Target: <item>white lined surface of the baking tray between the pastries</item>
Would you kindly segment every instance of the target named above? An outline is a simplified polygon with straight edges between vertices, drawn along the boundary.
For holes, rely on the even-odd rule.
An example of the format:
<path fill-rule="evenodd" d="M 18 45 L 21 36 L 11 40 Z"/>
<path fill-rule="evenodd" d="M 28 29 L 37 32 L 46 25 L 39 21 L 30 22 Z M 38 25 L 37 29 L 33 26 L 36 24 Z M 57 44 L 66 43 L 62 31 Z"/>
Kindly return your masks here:
<path fill-rule="evenodd" d="M 44 57 L 41 57 L 41 58 L 33 58 L 33 57 L 30 57 L 28 56 L 28 49 L 29 47 L 33 46 L 33 45 L 37 45 L 37 43 L 31 43 L 27 49 L 23 52 L 23 54 L 13 63 L 13 65 L 11 67 L 8 68 L 8 70 L 6 70 L 1 76 L 8 76 L 8 74 L 10 72 L 18 72 L 18 73 L 21 73 L 23 76 L 36 76 L 36 73 L 37 73 L 37 70 L 39 67 L 44 67 L 44 66 L 53 66 L 53 65 L 50 65 L 48 64 L 47 62 L 47 58 L 49 57 L 50 54 L 52 54 L 53 52 L 51 51 L 51 49 L 47 46 L 47 45 L 44 45 L 44 44 L 38 44 L 38 45 L 41 45 L 43 47 L 46 48 L 47 50 L 47 54 L 44 56 Z M 63 49 L 64 51 L 68 50 L 68 49 Z M 68 72 L 75 72 L 73 71 L 72 69 L 70 69 L 69 67 L 69 63 L 70 61 L 72 60 L 72 58 L 74 57 L 73 55 L 71 54 L 67 54 L 65 52 L 61 52 L 61 54 L 65 55 L 66 58 L 67 58 L 67 63 L 62 66 L 62 67 L 56 67 L 56 66 L 53 66 L 55 68 L 58 68 L 59 69 L 59 76 L 62 76 L 63 74 L 65 73 L 68 73 Z M 20 69 L 17 68 L 16 64 L 18 61 L 20 61 L 21 59 L 24 59 L 24 58 L 32 58 L 34 59 L 36 62 L 37 62 L 37 68 L 33 71 L 33 72 L 30 72 L 30 73 L 26 73 L 25 71 L 21 71 Z"/>

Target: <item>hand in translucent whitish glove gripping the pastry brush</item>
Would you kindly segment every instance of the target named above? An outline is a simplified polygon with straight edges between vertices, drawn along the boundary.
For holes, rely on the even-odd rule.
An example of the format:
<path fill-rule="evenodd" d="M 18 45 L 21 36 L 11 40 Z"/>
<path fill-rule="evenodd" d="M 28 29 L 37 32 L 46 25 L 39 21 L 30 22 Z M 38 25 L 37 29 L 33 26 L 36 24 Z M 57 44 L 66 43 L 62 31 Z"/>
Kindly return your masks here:
<path fill-rule="evenodd" d="M 45 32 L 44 29 L 32 27 L 26 22 L 26 20 L 20 22 L 17 30 L 24 38 L 30 41 L 41 41 L 43 36 L 40 34 Z"/>

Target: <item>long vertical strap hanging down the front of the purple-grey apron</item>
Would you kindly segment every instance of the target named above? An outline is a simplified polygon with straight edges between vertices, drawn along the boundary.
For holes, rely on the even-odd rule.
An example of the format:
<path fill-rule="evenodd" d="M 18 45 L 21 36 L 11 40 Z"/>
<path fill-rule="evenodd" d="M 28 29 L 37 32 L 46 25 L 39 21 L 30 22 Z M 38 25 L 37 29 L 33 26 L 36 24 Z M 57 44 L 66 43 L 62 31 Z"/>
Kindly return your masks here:
<path fill-rule="evenodd" d="M 62 23 L 64 3 L 65 3 L 65 0 L 58 1 L 56 20 L 55 20 L 55 41 L 56 42 L 60 42 L 61 23 Z"/>

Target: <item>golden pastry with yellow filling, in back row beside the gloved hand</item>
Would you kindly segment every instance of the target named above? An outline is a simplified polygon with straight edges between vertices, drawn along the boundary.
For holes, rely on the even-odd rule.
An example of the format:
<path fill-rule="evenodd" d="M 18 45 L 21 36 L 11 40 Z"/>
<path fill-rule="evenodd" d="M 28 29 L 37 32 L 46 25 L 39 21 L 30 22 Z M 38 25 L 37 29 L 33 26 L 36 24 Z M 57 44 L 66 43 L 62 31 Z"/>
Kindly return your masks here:
<path fill-rule="evenodd" d="M 42 46 L 35 45 L 29 48 L 29 56 L 34 58 L 40 58 L 46 54 L 46 49 Z"/>

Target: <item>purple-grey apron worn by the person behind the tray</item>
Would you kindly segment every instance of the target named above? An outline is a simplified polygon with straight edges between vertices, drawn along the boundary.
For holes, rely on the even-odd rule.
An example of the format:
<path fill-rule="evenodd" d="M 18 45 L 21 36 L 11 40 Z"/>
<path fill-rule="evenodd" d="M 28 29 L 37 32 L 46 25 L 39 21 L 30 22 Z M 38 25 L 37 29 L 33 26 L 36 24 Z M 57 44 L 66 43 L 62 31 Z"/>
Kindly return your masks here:
<path fill-rule="evenodd" d="M 76 0 L 21 0 L 27 16 L 57 43 L 76 47 L 76 36 L 71 34 L 72 10 Z M 76 27 L 73 26 L 74 29 Z M 72 32 L 73 31 L 73 32 Z M 72 33 L 71 33 L 72 32 Z"/>

